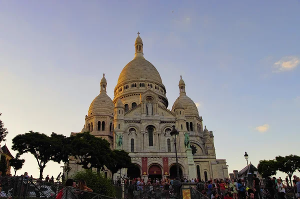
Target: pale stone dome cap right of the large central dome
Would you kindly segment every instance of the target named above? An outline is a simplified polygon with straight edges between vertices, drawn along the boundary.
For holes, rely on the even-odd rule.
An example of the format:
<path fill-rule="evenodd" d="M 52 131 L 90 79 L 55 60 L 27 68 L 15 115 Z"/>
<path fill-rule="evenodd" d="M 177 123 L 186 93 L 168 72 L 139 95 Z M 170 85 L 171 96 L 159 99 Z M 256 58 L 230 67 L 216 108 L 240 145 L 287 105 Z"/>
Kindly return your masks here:
<path fill-rule="evenodd" d="M 172 111 L 175 108 L 183 106 L 185 115 L 199 115 L 198 108 L 196 104 L 188 96 L 180 95 L 174 102 L 172 106 Z"/>

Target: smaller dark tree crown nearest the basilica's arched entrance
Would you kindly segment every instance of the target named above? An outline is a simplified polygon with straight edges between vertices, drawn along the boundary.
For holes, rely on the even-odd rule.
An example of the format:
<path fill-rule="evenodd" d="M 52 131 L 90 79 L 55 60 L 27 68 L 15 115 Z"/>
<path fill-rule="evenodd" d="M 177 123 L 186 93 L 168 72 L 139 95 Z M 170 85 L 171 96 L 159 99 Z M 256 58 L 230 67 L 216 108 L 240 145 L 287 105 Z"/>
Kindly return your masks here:
<path fill-rule="evenodd" d="M 113 177 L 113 174 L 119 169 L 131 166 L 131 158 L 128 155 L 128 152 L 124 150 L 113 150 L 109 158 L 110 159 L 105 163 L 105 166 L 111 171 L 111 177 Z"/>

